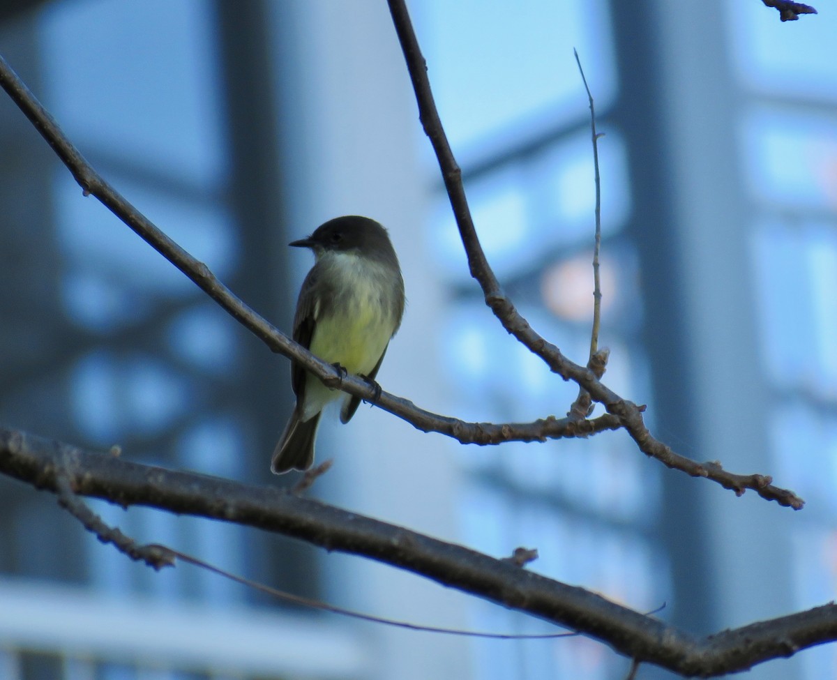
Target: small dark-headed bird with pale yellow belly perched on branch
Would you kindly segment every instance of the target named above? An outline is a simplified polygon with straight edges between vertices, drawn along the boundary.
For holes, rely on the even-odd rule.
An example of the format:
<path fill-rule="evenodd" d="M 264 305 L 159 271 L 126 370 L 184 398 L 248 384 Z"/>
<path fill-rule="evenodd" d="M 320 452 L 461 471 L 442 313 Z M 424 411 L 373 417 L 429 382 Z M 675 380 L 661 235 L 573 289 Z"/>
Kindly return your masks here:
<path fill-rule="evenodd" d="M 404 282 L 387 230 L 373 219 L 350 215 L 331 219 L 290 245 L 311 248 L 316 258 L 296 301 L 294 340 L 323 361 L 374 380 L 404 312 Z M 311 467 L 326 404 L 342 398 L 340 420 L 347 423 L 361 402 L 327 388 L 296 363 L 290 382 L 296 405 L 270 463 L 277 475 Z"/>

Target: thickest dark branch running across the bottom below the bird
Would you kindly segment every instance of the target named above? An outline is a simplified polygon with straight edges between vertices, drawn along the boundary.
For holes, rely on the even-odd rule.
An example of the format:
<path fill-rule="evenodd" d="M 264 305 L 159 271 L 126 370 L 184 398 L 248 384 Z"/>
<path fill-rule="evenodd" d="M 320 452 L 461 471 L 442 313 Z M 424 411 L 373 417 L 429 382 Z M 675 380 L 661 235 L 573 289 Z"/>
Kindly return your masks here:
<path fill-rule="evenodd" d="M 0 472 L 34 487 L 215 518 L 362 555 L 567 626 L 637 662 L 684 676 L 746 670 L 837 639 L 837 605 L 697 639 L 599 595 L 453 543 L 349 513 L 275 487 L 171 471 L 0 429 Z"/>

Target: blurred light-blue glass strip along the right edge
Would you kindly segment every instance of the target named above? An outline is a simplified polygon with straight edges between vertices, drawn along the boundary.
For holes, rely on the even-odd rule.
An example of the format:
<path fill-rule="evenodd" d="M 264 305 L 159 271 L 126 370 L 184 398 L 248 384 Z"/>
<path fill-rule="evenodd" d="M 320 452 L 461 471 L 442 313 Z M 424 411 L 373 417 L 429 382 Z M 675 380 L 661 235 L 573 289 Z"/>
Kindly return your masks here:
<path fill-rule="evenodd" d="M 837 63 L 826 24 L 780 33 L 771 17 L 745 14 L 733 44 L 759 354 L 776 477 L 807 502 L 792 543 L 804 609 L 834 599 L 837 574 Z M 833 645 L 802 660 L 805 677 L 837 672 Z"/>

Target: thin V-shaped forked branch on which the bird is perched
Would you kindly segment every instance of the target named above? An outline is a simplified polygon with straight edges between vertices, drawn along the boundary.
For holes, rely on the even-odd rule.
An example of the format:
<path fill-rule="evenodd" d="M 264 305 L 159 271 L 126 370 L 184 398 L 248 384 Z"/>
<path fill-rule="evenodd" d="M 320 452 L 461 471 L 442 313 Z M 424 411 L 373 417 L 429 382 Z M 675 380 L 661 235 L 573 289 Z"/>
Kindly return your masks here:
<path fill-rule="evenodd" d="M 0 57 L 0 86 L 3 87 L 3 90 L 6 90 L 15 104 L 18 105 L 18 108 L 32 121 L 33 126 L 35 126 L 41 136 L 49 143 L 49 146 L 58 154 L 59 158 L 64 162 L 64 165 L 73 173 L 74 178 L 80 183 L 85 194 L 89 193 L 94 195 L 95 198 L 98 198 L 117 218 L 121 219 L 133 229 L 137 235 L 175 265 L 177 269 L 181 270 L 196 286 L 206 292 L 220 307 L 226 312 L 229 312 L 234 319 L 248 328 L 250 332 L 253 332 L 256 337 L 259 337 L 271 350 L 281 353 L 285 357 L 291 358 L 295 362 L 305 366 L 306 370 L 314 373 L 328 387 L 341 389 L 348 394 L 354 394 L 362 399 L 366 399 L 383 410 L 406 420 L 419 430 L 424 432 L 439 432 L 440 434 L 453 437 L 463 444 L 499 444 L 511 440 L 543 441 L 560 437 L 592 435 L 603 430 L 616 430 L 622 426 L 628 430 L 629 435 L 634 438 L 641 451 L 644 451 L 649 456 L 660 458 L 666 466 L 685 471 L 692 477 L 707 477 L 708 479 L 721 483 L 726 488 L 733 489 L 739 495 L 745 489 L 751 488 L 759 496 L 768 500 L 775 500 L 782 505 L 790 506 L 794 509 L 803 507 L 804 501 L 793 494 L 793 492 L 773 487 L 769 482 L 765 484 L 764 480 L 769 479 L 768 477 L 763 477 L 762 475 L 732 475 L 721 471 L 720 467 L 713 468 L 710 471 L 695 461 L 690 461 L 684 456 L 678 456 L 668 446 L 655 440 L 650 435 L 648 429 L 645 428 L 641 411 L 635 404 L 622 399 L 618 394 L 615 394 L 612 390 L 601 384 L 593 370 L 578 366 L 578 364 L 565 358 L 555 345 L 547 343 L 546 340 L 531 330 L 526 320 L 511 305 L 511 301 L 505 295 L 501 294 L 499 285 L 497 285 L 496 279 L 493 273 L 490 272 L 488 263 L 485 261 L 485 256 L 481 255 L 480 242 L 476 237 L 474 225 L 470 221 L 468 204 L 465 201 L 465 192 L 462 189 L 459 167 L 456 167 L 453 155 L 450 153 L 447 141 L 444 139 L 444 131 L 442 131 L 441 124 L 439 123 L 439 116 L 435 112 L 435 105 L 430 94 L 427 76 L 424 74 L 424 80 L 421 80 L 419 79 L 419 75 L 417 75 L 417 68 L 424 69 L 424 59 L 421 57 L 418 44 L 415 41 L 415 35 L 409 23 L 407 10 L 400 0 L 391 0 L 391 8 L 393 6 L 393 18 L 395 18 L 397 27 L 401 26 L 399 37 L 404 33 L 402 42 L 405 45 L 404 54 L 408 55 L 411 75 L 413 75 L 414 80 L 418 79 L 419 85 L 423 88 L 417 90 L 423 93 L 419 96 L 419 109 L 424 111 L 424 109 L 428 109 L 429 107 L 429 112 L 434 115 L 435 125 L 431 129 L 438 131 L 434 132 L 434 134 L 441 135 L 441 140 L 444 142 L 441 147 L 442 151 L 444 152 L 444 149 L 447 150 L 447 156 L 442 161 L 443 167 L 453 168 L 450 173 L 445 173 L 445 183 L 449 183 L 449 191 L 453 192 L 451 193 L 451 202 L 454 204 L 457 221 L 460 223 L 460 229 L 463 229 L 461 215 L 464 210 L 465 218 L 467 219 L 466 226 L 470 224 L 470 231 L 466 229 L 463 232 L 464 234 L 470 235 L 467 238 L 464 235 L 463 239 L 465 240 L 465 248 L 469 251 L 469 258 L 472 257 L 472 251 L 476 253 L 473 256 L 476 258 L 475 261 L 478 264 L 472 264 L 472 271 L 478 273 L 483 272 L 483 274 L 487 272 L 490 275 L 488 280 L 486 280 L 486 285 L 493 287 L 486 289 L 484 286 L 486 301 L 489 302 L 489 306 L 494 310 L 496 316 L 501 319 L 504 327 L 509 332 L 515 335 L 532 352 L 544 358 L 553 372 L 561 375 L 563 379 L 572 379 L 579 387 L 587 390 L 593 399 L 604 404 L 609 415 L 602 415 L 594 420 L 579 420 L 577 417 L 557 419 L 554 416 L 548 416 L 542 420 L 523 424 L 504 423 L 497 425 L 494 423 L 467 423 L 457 418 L 436 415 L 429 411 L 419 409 L 408 399 L 403 399 L 387 392 L 382 391 L 380 394 L 377 394 L 377 389 L 372 387 L 366 380 L 357 376 L 347 375 L 344 378 L 331 364 L 322 361 L 306 348 L 294 343 L 284 333 L 277 330 L 269 322 L 266 322 L 264 318 L 259 317 L 256 312 L 245 305 L 243 301 L 239 300 L 227 286 L 224 286 L 223 283 L 218 281 L 218 278 L 213 275 L 207 265 L 193 258 L 186 250 L 183 250 L 168 238 L 166 234 L 163 234 L 157 226 L 152 224 L 131 203 L 128 203 L 116 189 L 105 182 L 95 172 L 93 167 L 90 166 L 90 163 L 80 154 L 79 150 L 69 142 L 69 139 L 55 123 L 52 116 L 49 116 L 49 113 L 35 99 L 34 95 L 23 84 L 23 81 L 18 78 L 18 75 L 15 74 L 3 57 Z M 406 28 L 404 28 L 405 22 Z M 412 44 L 414 44 L 414 49 L 410 49 L 409 47 Z M 419 88 L 419 85 L 417 85 L 417 88 Z M 425 103 L 423 106 L 421 104 L 423 101 L 429 101 L 429 104 Z M 479 263 L 484 263 L 485 268 Z M 482 283 L 483 281 L 480 281 L 481 285 Z"/>

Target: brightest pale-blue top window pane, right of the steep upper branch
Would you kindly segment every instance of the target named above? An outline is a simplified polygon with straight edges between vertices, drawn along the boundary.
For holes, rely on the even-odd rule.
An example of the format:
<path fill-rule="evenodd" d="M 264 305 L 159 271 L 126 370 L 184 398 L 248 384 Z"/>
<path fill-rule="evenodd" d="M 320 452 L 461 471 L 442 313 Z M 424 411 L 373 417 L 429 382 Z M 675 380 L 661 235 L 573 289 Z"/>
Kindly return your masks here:
<path fill-rule="evenodd" d="M 614 97 L 605 3 L 429 0 L 413 12 L 454 151 L 485 153 L 578 116 L 587 95 L 573 46 L 602 110 Z"/>

